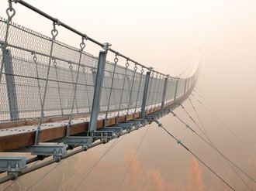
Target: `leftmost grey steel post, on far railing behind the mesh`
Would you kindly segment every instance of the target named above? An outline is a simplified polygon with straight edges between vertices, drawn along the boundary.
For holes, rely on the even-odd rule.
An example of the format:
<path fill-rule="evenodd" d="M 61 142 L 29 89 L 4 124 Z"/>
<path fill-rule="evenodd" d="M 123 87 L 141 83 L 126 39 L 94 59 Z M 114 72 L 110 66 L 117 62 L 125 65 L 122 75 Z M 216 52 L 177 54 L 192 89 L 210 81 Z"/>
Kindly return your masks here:
<path fill-rule="evenodd" d="M 13 75 L 11 50 L 2 49 L 3 62 L 5 66 L 6 87 L 8 92 L 9 111 L 11 120 L 19 119 L 16 84 Z"/>

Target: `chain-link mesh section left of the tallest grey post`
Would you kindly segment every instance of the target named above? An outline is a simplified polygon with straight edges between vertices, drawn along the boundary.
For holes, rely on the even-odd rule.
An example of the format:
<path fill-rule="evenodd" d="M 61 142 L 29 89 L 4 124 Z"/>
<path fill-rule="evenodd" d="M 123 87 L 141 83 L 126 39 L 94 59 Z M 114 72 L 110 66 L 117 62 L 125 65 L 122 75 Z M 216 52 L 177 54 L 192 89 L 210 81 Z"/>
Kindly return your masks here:
<path fill-rule="evenodd" d="M 5 22 L 0 18 L 2 42 Z M 49 37 L 10 22 L 6 53 L 1 49 L 0 121 L 40 118 L 44 94 L 43 117 L 70 114 L 80 49 L 54 41 L 50 56 L 50 47 Z M 97 58 L 82 53 L 74 114 L 89 112 L 92 107 L 92 68 L 97 67 L 97 63 Z"/>

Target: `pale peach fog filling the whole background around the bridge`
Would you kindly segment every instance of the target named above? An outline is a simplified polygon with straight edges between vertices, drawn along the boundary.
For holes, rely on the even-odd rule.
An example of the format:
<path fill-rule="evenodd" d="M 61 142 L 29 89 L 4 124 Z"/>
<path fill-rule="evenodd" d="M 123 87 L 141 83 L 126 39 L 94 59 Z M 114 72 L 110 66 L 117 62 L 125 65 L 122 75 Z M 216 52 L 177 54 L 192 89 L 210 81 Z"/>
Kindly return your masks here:
<path fill-rule="evenodd" d="M 171 76 L 189 67 L 200 47 L 199 80 L 191 101 L 183 103 L 199 127 L 182 107 L 175 113 L 207 141 L 208 135 L 223 155 L 256 179 L 255 1 L 26 2 Z M 0 0 L 0 5 L 0 16 L 6 18 L 8 3 Z M 22 5 L 13 7 L 13 22 L 50 35 L 52 22 Z M 58 38 L 72 46 L 81 43 L 80 36 L 64 29 L 59 29 Z M 86 44 L 85 51 L 98 56 L 100 48 Z M 109 53 L 110 61 L 112 56 Z M 234 189 L 256 189 L 255 182 L 234 165 L 232 169 L 220 153 L 178 118 L 169 114 L 159 121 Z M 7 190 L 48 190 L 46 185 L 50 190 L 230 190 L 202 162 L 152 123 L 22 176 Z"/>

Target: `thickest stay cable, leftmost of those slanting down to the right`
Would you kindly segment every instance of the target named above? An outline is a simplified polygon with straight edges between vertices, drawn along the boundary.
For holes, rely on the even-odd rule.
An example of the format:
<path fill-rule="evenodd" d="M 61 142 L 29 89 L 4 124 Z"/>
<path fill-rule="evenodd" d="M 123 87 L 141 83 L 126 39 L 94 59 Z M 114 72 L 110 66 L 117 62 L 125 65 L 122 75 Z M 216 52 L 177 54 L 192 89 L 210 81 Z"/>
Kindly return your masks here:
<path fill-rule="evenodd" d="M 172 135 L 166 128 L 164 128 L 164 126 L 163 126 L 159 121 L 157 121 L 157 120 L 154 120 L 154 121 L 158 124 L 159 127 L 163 128 L 164 131 L 166 131 L 166 132 L 168 133 L 168 135 L 170 135 L 172 138 L 174 138 L 175 141 L 176 141 L 179 145 L 182 145 L 183 148 L 185 148 L 188 152 L 190 152 L 193 156 L 195 156 L 196 159 L 198 159 L 200 162 L 202 162 L 202 164 L 205 165 L 207 169 L 209 169 L 211 172 L 213 172 L 214 175 L 216 175 L 222 182 L 224 182 L 227 186 L 229 186 L 230 189 L 235 190 L 235 189 L 234 189 L 232 186 L 230 186 L 223 178 L 221 178 L 218 174 L 216 174 L 216 172 L 214 172 L 213 169 L 211 169 L 211 168 L 209 167 L 209 165 L 206 165 L 205 162 L 203 162 L 201 159 L 199 159 L 199 157 L 198 157 L 197 155 L 195 155 L 192 151 L 190 151 L 189 148 L 187 148 L 187 147 L 182 143 L 181 140 L 179 140 L 178 138 L 175 138 L 175 136 Z"/>

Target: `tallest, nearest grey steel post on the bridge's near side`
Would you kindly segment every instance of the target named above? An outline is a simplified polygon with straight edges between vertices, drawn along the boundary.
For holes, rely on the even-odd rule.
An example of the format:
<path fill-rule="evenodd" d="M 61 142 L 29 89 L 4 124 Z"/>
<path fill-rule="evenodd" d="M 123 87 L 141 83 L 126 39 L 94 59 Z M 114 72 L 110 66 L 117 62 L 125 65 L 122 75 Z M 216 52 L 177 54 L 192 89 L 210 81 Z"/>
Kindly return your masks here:
<path fill-rule="evenodd" d="M 107 49 L 105 51 L 99 52 L 98 68 L 96 73 L 95 88 L 94 88 L 93 101 L 92 101 L 92 113 L 91 113 L 91 118 L 89 123 L 89 129 L 88 129 L 88 131 L 90 132 L 95 131 L 97 127 L 100 98 L 102 95 L 104 70 L 106 66 L 106 54 L 107 54 Z"/>

